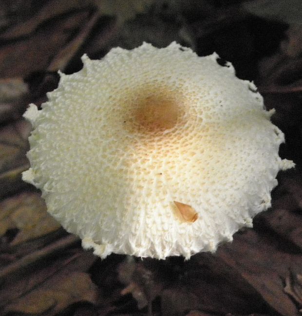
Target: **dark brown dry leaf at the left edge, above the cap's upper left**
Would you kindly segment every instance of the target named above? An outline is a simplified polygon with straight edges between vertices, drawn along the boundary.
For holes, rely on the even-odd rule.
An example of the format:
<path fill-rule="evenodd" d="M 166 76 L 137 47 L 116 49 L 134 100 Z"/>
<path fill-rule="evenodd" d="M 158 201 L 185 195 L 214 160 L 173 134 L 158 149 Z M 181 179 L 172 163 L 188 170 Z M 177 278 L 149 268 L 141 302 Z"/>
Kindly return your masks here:
<path fill-rule="evenodd" d="M 28 38 L 8 41 L 0 47 L 2 78 L 27 76 L 45 71 L 53 58 L 66 46 L 70 38 L 85 25 L 90 11 L 74 12 L 49 21 Z M 5 60 L 5 62 L 4 62 Z"/>

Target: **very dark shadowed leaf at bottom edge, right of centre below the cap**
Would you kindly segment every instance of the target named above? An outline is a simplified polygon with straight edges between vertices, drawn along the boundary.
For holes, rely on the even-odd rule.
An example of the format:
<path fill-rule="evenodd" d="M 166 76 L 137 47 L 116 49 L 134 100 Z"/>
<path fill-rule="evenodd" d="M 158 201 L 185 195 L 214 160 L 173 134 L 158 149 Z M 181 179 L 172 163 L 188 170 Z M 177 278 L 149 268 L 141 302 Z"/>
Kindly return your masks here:
<path fill-rule="evenodd" d="M 163 275 L 175 275 L 174 282 L 160 294 L 163 315 L 183 315 L 190 310 L 214 315 L 263 312 L 265 302 L 255 288 L 215 254 L 198 253 L 178 268 L 175 263 L 169 272 L 159 270 Z M 169 266 L 169 260 L 166 264 Z"/>

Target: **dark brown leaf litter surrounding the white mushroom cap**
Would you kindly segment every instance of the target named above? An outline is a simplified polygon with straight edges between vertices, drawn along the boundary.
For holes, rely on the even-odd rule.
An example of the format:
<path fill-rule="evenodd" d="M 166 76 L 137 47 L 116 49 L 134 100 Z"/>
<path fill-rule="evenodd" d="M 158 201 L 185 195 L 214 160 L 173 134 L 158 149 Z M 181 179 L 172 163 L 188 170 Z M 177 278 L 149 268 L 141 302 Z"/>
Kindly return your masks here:
<path fill-rule="evenodd" d="M 295 1 L 38 2 L 13 0 L 0 10 L 0 315 L 301 315 L 302 29 Z M 145 40 L 162 47 L 175 39 L 199 55 L 215 50 L 239 77 L 255 81 L 285 133 L 280 154 L 296 168 L 278 175 L 272 208 L 254 228 L 216 254 L 101 261 L 21 181 L 31 130 L 21 114 L 56 88 L 58 69 L 78 71 L 84 52 L 100 58 L 114 46 Z"/>

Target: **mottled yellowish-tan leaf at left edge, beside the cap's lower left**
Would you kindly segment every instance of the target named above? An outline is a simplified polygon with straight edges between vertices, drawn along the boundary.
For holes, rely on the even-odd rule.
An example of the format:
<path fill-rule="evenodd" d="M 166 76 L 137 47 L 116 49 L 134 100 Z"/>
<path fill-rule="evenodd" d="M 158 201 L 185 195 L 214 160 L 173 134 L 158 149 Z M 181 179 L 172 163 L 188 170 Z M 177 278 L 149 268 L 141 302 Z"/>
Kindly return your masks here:
<path fill-rule="evenodd" d="M 11 228 L 19 229 L 12 245 L 49 234 L 59 227 L 38 193 L 24 192 L 0 202 L 0 235 Z"/>

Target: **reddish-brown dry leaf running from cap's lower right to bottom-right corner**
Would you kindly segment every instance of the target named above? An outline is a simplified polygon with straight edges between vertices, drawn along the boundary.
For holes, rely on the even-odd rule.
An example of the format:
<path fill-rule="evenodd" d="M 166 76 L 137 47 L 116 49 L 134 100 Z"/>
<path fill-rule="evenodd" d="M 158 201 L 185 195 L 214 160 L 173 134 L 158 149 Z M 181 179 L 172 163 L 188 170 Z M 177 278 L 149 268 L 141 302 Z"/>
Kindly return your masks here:
<path fill-rule="evenodd" d="M 295 303 L 283 291 L 283 280 L 290 270 L 302 273 L 302 256 L 286 250 L 273 236 L 246 229 L 235 234 L 231 244 L 219 247 L 217 255 L 234 267 L 278 313 L 298 316 Z"/>

